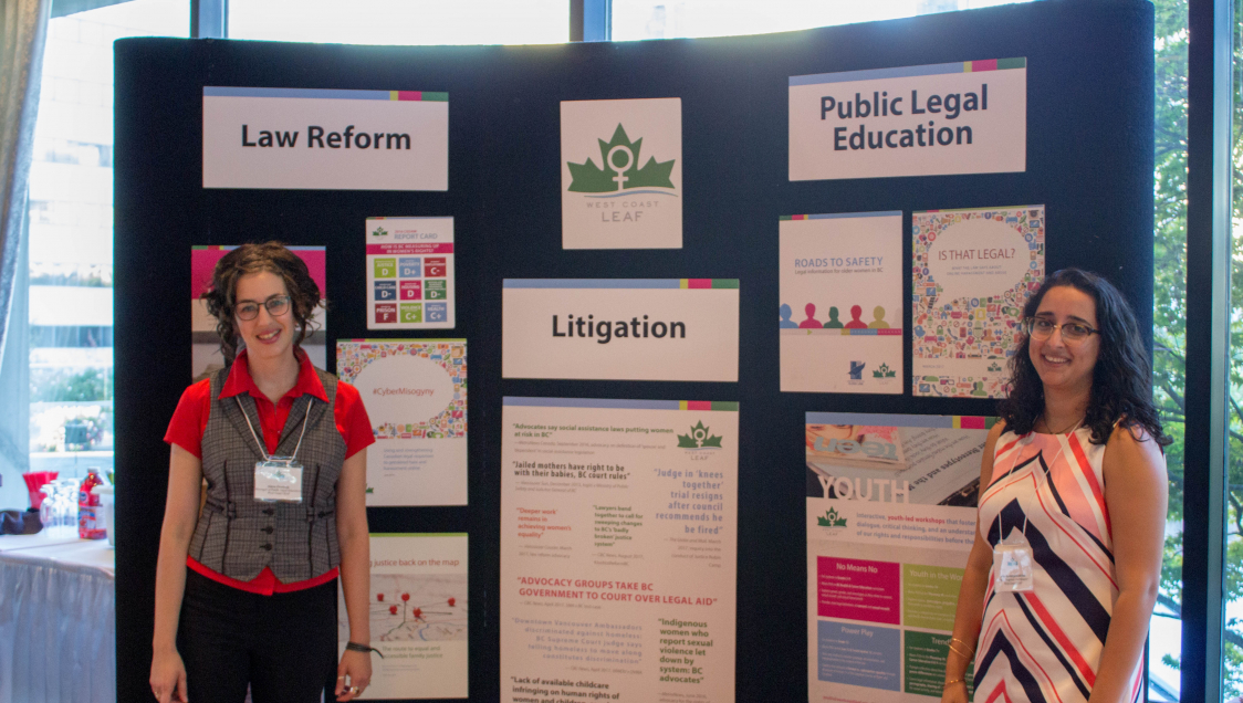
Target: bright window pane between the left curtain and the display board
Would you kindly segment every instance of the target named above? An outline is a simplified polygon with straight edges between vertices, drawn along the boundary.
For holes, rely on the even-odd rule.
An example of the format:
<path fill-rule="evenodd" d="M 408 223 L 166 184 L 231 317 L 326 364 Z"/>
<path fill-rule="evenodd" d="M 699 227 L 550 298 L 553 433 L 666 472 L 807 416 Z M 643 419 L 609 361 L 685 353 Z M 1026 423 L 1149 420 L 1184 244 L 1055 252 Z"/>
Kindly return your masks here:
<path fill-rule="evenodd" d="M 189 26 L 188 0 L 48 24 L 30 166 L 31 471 L 112 469 L 112 42 Z"/>

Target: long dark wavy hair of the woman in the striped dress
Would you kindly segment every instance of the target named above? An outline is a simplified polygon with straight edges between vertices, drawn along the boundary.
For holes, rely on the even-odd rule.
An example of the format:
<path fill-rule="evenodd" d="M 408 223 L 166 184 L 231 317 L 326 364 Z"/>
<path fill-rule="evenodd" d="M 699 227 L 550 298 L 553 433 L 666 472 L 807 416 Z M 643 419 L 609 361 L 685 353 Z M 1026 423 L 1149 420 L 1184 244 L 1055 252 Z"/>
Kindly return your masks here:
<path fill-rule="evenodd" d="M 1135 313 L 1109 281 L 1078 268 L 1063 268 L 1045 278 L 1040 289 L 1028 299 L 1023 318 L 1035 317 L 1044 294 L 1059 286 L 1086 293 L 1096 302 L 1100 355 L 1093 369 L 1091 399 L 1083 421 L 1091 430 L 1091 443 L 1108 442 L 1115 424 L 1132 431 L 1142 430 L 1162 447 L 1172 442 L 1161 430 L 1152 405 L 1152 366 Z M 1044 384 L 1028 354 L 1029 338 L 1019 334 L 1017 339 L 1018 348 L 1009 360 L 1009 394 L 999 404 L 997 414 L 1006 420 L 1009 430 L 1025 435 L 1044 414 Z"/>

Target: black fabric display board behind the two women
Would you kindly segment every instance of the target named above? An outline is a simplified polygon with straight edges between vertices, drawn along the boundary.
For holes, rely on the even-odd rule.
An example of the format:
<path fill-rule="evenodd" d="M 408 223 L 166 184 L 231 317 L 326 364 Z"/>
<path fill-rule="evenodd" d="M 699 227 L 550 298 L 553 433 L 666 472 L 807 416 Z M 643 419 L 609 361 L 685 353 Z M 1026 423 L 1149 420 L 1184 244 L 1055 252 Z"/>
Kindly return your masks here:
<path fill-rule="evenodd" d="M 471 701 L 498 681 L 502 395 L 736 400 L 737 699 L 805 701 L 803 414 L 989 415 L 981 400 L 778 391 L 778 216 L 1043 204 L 1048 271 L 1103 273 L 1152 302 L 1152 5 L 1033 2 L 766 36 L 526 47 L 360 47 L 131 39 L 116 45 L 118 701 L 149 699 L 162 442 L 189 383 L 191 245 L 328 247 L 328 359 L 368 333 L 368 216 L 452 216 L 455 330 L 470 355 L 470 506 L 372 508 L 374 532 L 470 534 Z M 791 183 L 787 78 L 1027 57 L 1025 173 Z M 409 88 L 450 97 L 447 193 L 204 190 L 203 86 Z M 680 97 L 684 247 L 563 251 L 558 103 Z M 738 383 L 501 379 L 501 279 L 738 278 Z M 904 293 L 910 299 L 907 277 Z M 910 342 L 911 312 L 902 313 Z M 1150 340 L 1151 342 L 1151 340 Z M 910 354 L 906 355 L 909 378 Z M 331 369 L 329 369 L 331 370 Z"/>

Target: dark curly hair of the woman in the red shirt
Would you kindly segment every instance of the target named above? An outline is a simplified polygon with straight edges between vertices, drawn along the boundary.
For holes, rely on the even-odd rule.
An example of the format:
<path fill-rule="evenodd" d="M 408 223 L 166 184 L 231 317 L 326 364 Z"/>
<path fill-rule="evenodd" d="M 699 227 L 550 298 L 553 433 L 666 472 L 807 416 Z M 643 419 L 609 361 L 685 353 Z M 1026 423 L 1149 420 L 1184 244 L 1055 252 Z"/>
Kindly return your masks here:
<path fill-rule="evenodd" d="M 211 273 L 211 287 L 199 296 L 208 303 L 208 312 L 216 318 L 216 334 L 220 335 L 220 353 L 225 358 L 225 366 L 232 365 L 237 356 L 240 334 L 237 322 L 234 319 L 237 281 L 242 276 L 261 271 L 280 276 L 290 292 L 293 320 L 300 330 L 297 339 L 293 340 L 295 349 L 300 349 L 302 340 L 318 327 L 312 315 L 316 306 L 326 302 L 319 299 L 319 286 L 311 278 L 306 262 L 285 248 L 281 242 L 242 245 L 216 262 L 216 268 Z"/>

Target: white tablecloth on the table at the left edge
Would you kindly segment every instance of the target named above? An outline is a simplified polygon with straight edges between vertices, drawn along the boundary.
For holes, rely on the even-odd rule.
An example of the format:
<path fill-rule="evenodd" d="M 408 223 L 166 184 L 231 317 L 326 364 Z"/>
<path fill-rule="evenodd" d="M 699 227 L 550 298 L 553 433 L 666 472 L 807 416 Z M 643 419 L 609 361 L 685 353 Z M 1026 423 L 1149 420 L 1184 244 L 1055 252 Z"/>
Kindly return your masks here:
<path fill-rule="evenodd" d="M 0 703 L 117 698 L 107 540 L 0 537 Z"/>

